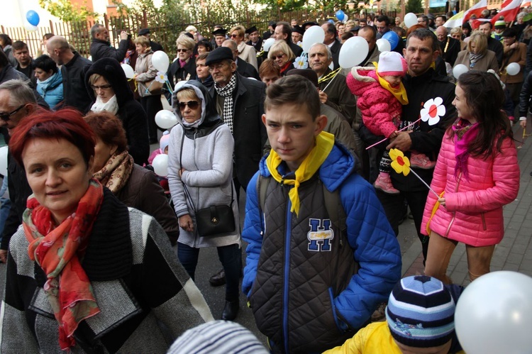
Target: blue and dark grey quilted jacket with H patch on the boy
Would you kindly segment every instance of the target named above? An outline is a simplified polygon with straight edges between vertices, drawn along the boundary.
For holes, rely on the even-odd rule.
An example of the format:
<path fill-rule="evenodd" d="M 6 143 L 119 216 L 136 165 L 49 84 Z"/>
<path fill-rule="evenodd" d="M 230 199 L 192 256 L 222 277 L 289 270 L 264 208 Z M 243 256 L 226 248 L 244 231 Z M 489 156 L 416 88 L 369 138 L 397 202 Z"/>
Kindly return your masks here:
<path fill-rule="evenodd" d="M 284 353 L 321 353 L 343 343 L 401 277 L 399 243 L 373 187 L 354 167 L 353 156 L 335 145 L 318 173 L 301 183 L 299 216 L 290 212 L 292 186 L 271 177 L 265 157 L 248 185 L 243 292 L 257 327 Z M 259 174 L 270 178 L 264 214 Z M 339 191 L 345 234 L 331 226 L 321 184 Z"/>

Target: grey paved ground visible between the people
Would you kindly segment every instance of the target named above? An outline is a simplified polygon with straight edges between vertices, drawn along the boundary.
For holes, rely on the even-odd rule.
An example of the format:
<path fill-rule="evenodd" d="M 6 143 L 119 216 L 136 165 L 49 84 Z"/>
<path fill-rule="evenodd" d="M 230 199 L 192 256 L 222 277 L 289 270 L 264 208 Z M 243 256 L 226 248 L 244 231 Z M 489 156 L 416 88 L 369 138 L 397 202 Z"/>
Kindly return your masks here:
<path fill-rule="evenodd" d="M 528 125 L 529 129 L 531 124 Z M 532 129 L 531 129 L 532 130 Z M 516 140 L 522 140 L 523 131 L 520 128 L 514 128 Z M 518 145 L 520 145 L 518 143 Z M 502 242 L 497 245 L 492 260 L 492 271 L 494 270 L 514 270 L 532 276 L 532 217 L 529 215 L 529 209 L 532 204 L 532 177 L 529 173 L 532 171 L 532 138 L 525 141 L 523 148 L 519 149 L 519 165 L 521 167 L 520 190 L 517 199 L 504 208 L 504 225 L 506 233 Z M 152 148 L 157 148 L 152 145 Z M 152 150 L 153 150 L 152 149 Z M 531 150 L 531 151 L 529 151 Z M 244 205 L 244 196 L 240 196 L 240 205 Z M 240 217 L 243 220 L 243 207 L 240 208 Z M 416 236 L 414 222 L 410 219 L 404 221 L 399 226 L 399 244 L 403 254 L 403 274 L 416 275 L 423 273 L 421 243 Z M 243 259 L 245 253 L 243 247 Z M 196 270 L 196 284 L 203 292 L 206 302 L 209 304 L 215 319 L 221 317 L 224 305 L 224 287 L 211 287 L 209 277 L 221 269 L 216 249 L 201 250 L 199 256 L 198 268 Z M 0 284 L 5 282 L 6 265 L 0 264 Z M 465 248 L 459 245 L 450 260 L 448 274 L 456 284 L 467 285 L 467 259 Z M 3 297 L 4 286 L 0 287 L 0 295 Z M 255 320 L 250 309 L 245 306 L 246 299 L 240 296 L 240 313 L 237 321 L 243 326 L 250 328 L 261 341 L 265 342 L 265 337 L 257 330 Z"/>

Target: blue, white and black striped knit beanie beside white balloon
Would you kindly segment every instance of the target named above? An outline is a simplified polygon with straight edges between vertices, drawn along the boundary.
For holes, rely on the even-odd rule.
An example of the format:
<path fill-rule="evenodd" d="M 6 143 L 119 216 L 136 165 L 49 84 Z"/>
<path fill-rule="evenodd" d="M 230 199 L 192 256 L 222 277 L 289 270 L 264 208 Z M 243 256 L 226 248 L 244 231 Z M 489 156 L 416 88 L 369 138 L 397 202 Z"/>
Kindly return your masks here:
<path fill-rule="evenodd" d="M 386 319 L 396 341 L 430 348 L 450 341 L 455 330 L 455 302 L 436 278 L 401 279 L 389 296 Z"/>

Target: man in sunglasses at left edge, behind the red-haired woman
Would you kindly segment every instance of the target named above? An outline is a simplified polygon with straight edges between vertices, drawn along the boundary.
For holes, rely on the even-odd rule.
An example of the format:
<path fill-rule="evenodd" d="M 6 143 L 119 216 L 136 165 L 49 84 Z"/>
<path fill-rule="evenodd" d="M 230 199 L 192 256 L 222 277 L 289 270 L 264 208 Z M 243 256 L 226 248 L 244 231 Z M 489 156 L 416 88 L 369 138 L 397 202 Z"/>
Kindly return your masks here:
<path fill-rule="evenodd" d="M 0 127 L 7 128 L 9 135 L 26 116 L 37 109 L 37 100 L 28 82 L 12 79 L 0 84 Z M 22 223 L 22 214 L 26 210 L 26 200 L 31 188 L 23 167 L 8 155 L 7 179 L 11 209 L 6 219 L 0 244 L 0 260 L 6 262 L 9 240 Z"/>

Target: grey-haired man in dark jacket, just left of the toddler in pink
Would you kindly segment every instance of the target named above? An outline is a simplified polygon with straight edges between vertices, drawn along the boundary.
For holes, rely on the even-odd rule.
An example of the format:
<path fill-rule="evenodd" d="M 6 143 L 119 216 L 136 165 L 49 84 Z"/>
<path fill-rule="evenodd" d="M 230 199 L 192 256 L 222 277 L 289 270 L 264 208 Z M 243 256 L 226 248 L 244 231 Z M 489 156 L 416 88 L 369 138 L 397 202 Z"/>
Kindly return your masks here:
<path fill-rule="evenodd" d="M 333 107 L 352 123 L 357 113 L 357 102 L 345 83 L 345 76 L 340 72 L 333 72 L 329 67 L 332 61 L 333 55 L 327 45 L 314 43 L 311 46 L 309 67 L 318 74 L 321 103 Z"/>

